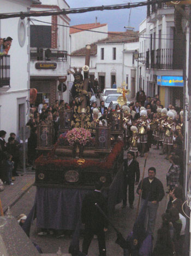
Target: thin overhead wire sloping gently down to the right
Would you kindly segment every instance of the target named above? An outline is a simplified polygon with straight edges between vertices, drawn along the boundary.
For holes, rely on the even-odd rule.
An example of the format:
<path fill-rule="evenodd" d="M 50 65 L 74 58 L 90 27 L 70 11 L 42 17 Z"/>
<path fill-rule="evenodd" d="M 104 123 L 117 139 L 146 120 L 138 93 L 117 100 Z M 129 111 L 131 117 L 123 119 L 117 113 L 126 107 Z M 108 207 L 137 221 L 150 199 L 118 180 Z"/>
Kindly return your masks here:
<path fill-rule="evenodd" d="M 76 30 L 80 30 L 80 31 L 88 31 L 88 32 L 93 32 L 93 33 L 102 33 L 102 34 L 111 34 L 111 35 L 115 35 L 115 36 L 122 36 L 122 37 L 132 37 L 132 38 L 147 38 L 147 39 L 151 39 L 151 37 L 143 37 L 143 36 L 138 36 L 136 34 L 124 34 L 124 33 L 115 33 L 115 32 L 103 32 L 103 31 L 94 31 L 94 30 L 87 30 L 85 28 L 79 28 L 79 27 L 75 27 L 75 26 L 68 26 L 68 25 L 62 25 L 62 24 L 55 24 L 52 22 L 47 22 L 47 21 L 41 21 L 41 20 L 37 20 L 37 19 L 30 19 L 31 21 L 37 21 L 37 22 L 41 22 L 44 24 L 50 24 L 50 25 L 57 25 L 57 26 L 61 26 L 61 27 L 69 27 L 69 28 L 75 28 Z M 174 38 L 157 38 L 154 37 L 155 39 L 161 39 L 161 40 L 180 40 L 180 39 L 174 39 Z"/>

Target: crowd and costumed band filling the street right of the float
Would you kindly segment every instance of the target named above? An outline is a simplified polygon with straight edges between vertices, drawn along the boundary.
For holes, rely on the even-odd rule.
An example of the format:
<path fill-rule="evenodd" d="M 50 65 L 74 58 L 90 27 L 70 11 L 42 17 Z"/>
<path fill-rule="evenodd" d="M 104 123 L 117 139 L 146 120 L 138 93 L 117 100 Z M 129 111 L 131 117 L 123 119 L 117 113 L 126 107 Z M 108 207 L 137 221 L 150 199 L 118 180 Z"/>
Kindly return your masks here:
<path fill-rule="evenodd" d="M 160 155 L 165 155 L 165 159 L 170 162 L 170 168 L 166 173 L 168 188 L 166 193 L 170 194 L 170 200 L 166 213 L 162 216 L 163 224 L 158 230 L 153 255 L 175 255 L 175 253 L 183 255 L 186 226 L 186 218 L 181 208 L 183 203 L 183 109 L 172 104 L 169 104 L 166 109 L 161 104 L 159 95 L 146 98 L 141 88 L 136 95 L 136 102 L 130 102 L 129 106 L 117 105 L 112 110 L 106 108 L 104 102 L 100 102 L 100 107 L 97 107 L 94 102 L 91 109 L 93 120 L 98 126 L 110 125 L 109 117 L 112 111 L 123 112 L 121 139 L 124 141 L 125 148 L 128 149 L 127 159 L 124 160 L 123 207 L 127 207 L 128 189 L 129 207 L 134 208 L 134 186 L 138 185 L 140 178 L 139 162 L 136 161 L 139 152 L 143 157 L 152 145 L 156 146 L 154 148 L 156 150 L 161 147 Z M 142 188 L 140 182 L 137 189 L 137 193 L 141 194 L 141 205 L 148 199 L 147 231 L 151 235 L 154 231 L 159 202 L 165 195 L 162 182 L 155 176 L 156 168 L 150 167 Z"/>

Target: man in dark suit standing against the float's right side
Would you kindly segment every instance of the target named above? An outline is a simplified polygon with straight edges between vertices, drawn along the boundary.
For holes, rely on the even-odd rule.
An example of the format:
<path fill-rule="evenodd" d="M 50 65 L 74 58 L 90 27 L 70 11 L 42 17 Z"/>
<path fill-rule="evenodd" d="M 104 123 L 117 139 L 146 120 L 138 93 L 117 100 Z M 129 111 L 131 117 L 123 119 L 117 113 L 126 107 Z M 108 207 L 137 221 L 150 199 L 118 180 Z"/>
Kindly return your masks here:
<path fill-rule="evenodd" d="M 127 206 L 127 187 L 129 186 L 129 207 L 133 209 L 135 199 L 134 188 L 138 185 L 140 178 L 139 162 L 134 160 L 134 152 L 127 153 L 127 159 L 124 160 L 124 179 L 123 179 L 123 207 Z M 136 179 L 135 179 L 136 174 Z"/>

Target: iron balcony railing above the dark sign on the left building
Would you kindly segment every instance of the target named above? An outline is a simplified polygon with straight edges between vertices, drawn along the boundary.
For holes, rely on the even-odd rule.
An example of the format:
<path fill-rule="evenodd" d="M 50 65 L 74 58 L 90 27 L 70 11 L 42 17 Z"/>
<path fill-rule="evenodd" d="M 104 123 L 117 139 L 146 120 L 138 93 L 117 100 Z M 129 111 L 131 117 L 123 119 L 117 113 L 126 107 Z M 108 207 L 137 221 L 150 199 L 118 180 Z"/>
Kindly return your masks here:
<path fill-rule="evenodd" d="M 37 61 L 66 61 L 67 60 L 67 51 L 58 51 L 51 49 L 31 49 L 31 60 Z"/>

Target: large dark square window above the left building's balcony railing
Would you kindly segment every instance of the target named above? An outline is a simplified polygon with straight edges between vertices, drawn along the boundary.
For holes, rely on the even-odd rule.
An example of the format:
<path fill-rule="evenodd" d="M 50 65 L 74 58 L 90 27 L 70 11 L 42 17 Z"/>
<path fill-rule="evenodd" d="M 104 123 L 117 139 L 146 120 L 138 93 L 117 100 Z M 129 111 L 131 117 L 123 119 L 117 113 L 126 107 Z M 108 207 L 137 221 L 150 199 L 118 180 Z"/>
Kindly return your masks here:
<path fill-rule="evenodd" d="M 31 25 L 31 47 L 51 48 L 51 26 Z"/>

